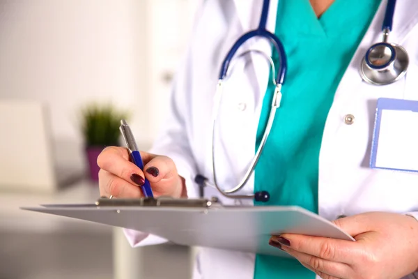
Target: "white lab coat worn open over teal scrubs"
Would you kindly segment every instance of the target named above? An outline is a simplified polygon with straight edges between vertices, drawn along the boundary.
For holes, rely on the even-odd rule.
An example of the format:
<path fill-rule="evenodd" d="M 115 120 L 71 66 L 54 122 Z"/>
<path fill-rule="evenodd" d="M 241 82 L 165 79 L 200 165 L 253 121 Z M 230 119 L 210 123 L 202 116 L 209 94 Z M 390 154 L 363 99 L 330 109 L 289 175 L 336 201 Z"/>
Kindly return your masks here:
<path fill-rule="evenodd" d="M 220 65 L 235 40 L 258 26 L 262 2 L 206 0 L 197 14 L 185 61 L 173 85 L 167 122 L 152 149 L 153 153 L 173 158 L 179 174 L 187 180 L 189 197 L 196 197 L 193 180 L 197 173 L 212 177 L 212 98 Z M 328 220 L 365 211 L 411 213 L 418 218 L 418 173 L 368 167 L 376 100 L 380 97 L 418 100 L 417 0 L 396 3 L 393 32 L 389 36 L 391 42 L 403 45 L 408 51 L 410 67 L 407 75 L 387 86 L 366 84 L 359 75 L 359 63 L 364 53 L 382 38 L 386 3 L 386 0 L 382 1 L 355 52 L 327 116 L 319 158 L 318 202 L 320 216 Z M 272 0 L 267 25 L 273 33 L 276 15 L 277 0 Z M 240 51 L 250 47 L 271 53 L 270 45 L 263 39 L 251 40 Z M 215 141 L 217 176 L 222 186 L 235 186 L 254 156 L 258 116 L 269 70 L 268 62 L 262 56 L 251 54 L 236 61 L 233 75 L 226 83 L 219 112 L 222 120 L 218 121 Z M 346 114 L 355 117 L 352 125 L 344 121 Z M 252 192 L 253 186 L 254 176 L 245 191 Z M 213 188 L 206 188 L 206 195 L 221 197 Z M 233 203 L 233 200 L 222 199 L 222 202 Z M 243 200 L 242 203 L 251 204 L 251 201 Z M 125 232 L 135 247 L 164 241 L 141 232 Z M 202 248 L 196 259 L 194 278 L 251 279 L 254 259 L 255 256 L 248 253 Z M 415 277 L 410 275 L 409 278 Z"/>

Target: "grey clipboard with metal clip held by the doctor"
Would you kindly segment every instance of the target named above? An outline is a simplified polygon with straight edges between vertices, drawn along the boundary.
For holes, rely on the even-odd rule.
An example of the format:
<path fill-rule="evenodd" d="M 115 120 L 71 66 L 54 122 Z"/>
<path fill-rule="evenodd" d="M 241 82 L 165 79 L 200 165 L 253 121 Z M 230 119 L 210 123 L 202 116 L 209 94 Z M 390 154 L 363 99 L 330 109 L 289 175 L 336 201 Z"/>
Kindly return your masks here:
<path fill-rule="evenodd" d="M 268 245 L 284 232 L 355 241 L 330 221 L 299 206 L 223 206 L 217 199 L 100 198 L 95 204 L 21 207 L 115 227 L 135 229 L 183 246 L 290 257 Z"/>

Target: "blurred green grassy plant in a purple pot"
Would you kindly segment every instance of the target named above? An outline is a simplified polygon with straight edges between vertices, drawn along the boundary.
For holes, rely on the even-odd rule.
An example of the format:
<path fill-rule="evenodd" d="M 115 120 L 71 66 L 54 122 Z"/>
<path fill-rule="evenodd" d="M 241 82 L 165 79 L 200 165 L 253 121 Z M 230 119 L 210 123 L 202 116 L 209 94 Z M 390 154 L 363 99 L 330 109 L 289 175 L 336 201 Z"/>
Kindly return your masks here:
<path fill-rule="evenodd" d="M 121 119 L 127 113 L 117 110 L 113 105 L 89 104 L 82 110 L 82 133 L 88 162 L 90 178 L 98 181 L 97 159 L 106 146 L 118 146 L 121 132 Z"/>

